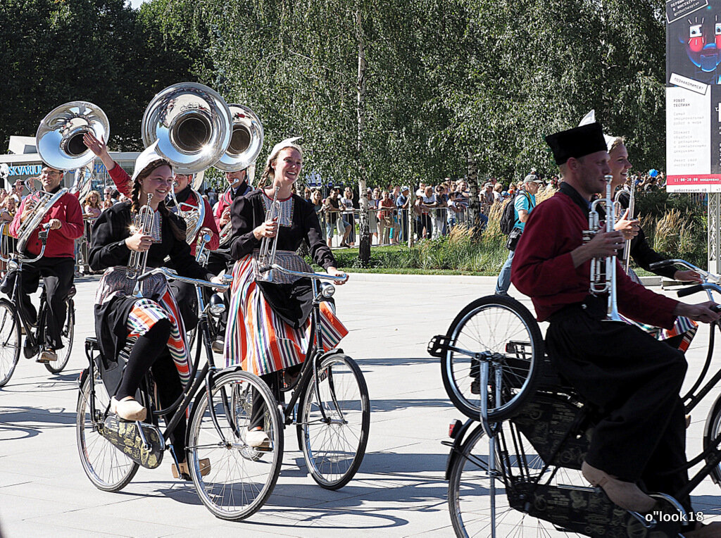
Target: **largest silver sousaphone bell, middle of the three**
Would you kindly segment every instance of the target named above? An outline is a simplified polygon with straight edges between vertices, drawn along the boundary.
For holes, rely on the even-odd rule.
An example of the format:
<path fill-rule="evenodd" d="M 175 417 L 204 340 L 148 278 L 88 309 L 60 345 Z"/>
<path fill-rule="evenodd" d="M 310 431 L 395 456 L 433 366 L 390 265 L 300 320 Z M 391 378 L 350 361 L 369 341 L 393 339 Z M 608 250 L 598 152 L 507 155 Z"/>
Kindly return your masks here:
<path fill-rule="evenodd" d="M 231 113 L 223 97 L 203 84 L 181 82 L 159 92 L 141 125 L 146 147 L 158 152 L 175 172 L 195 174 L 213 165 L 231 142 Z"/>

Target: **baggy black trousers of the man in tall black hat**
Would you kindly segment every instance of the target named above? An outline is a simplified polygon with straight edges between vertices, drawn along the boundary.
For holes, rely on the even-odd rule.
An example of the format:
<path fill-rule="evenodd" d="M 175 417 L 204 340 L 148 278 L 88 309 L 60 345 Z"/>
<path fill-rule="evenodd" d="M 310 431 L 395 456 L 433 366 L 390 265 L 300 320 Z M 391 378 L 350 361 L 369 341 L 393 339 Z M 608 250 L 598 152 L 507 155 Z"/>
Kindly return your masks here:
<path fill-rule="evenodd" d="M 546 345 L 554 366 L 602 411 L 586 462 L 649 491 L 673 495 L 689 481 L 684 405 L 686 358 L 633 325 L 602 321 L 606 301 L 553 314 Z M 688 497 L 678 499 L 687 510 Z"/>

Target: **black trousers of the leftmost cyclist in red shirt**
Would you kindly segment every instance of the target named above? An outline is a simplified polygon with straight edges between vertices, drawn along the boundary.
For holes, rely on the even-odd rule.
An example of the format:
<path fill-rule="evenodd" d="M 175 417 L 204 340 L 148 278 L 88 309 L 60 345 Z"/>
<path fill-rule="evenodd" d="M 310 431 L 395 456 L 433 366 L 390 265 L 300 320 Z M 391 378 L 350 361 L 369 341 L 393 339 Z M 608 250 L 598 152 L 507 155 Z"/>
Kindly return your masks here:
<path fill-rule="evenodd" d="M 41 257 L 35 263 L 22 266 L 22 286 L 20 286 L 18 302 L 30 321 L 35 322 L 37 311 L 30 302 L 30 294 L 37 291 L 40 277 L 43 277 L 45 294 L 48 296 L 45 346 L 53 350 L 63 347 L 60 335 L 65 323 L 65 300 L 73 285 L 74 270 L 75 260 L 71 257 Z"/>

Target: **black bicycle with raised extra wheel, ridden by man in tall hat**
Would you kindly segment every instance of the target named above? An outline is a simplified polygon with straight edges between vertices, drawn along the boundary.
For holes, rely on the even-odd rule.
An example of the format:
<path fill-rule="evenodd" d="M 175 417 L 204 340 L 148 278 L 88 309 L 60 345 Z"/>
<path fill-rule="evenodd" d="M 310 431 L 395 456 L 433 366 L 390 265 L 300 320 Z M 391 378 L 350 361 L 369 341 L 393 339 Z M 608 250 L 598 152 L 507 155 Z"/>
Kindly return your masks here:
<path fill-rule="evenodd" d="M 696 291 L 721 294 L 721 286 L 704 283 L 679 295 Z M 446 386 L 449 394 L 473 394 L 479 410 L 474 420 L 452 424 L 452 441 L 444 443 L 451 447 L 446 478 L 456 536 L 545 537 L 564 532 L 662 538 L 678 537 L 684 522 L 702 521 L 704 514 L 686 513 L 676 498 L 688 495 L 709 475 L 718 483 L 721 395 L 706 421 L 704 449 L 689 460 L 689 468 L 703 464 L 699 472 L 673 496 L 651 493 L 659 508 L 650 516 L 626 511 L 611 503 L 601 488 L 589 487 L 581 475 L 594 425 L 603 415 L 555 371 L 540 334 L 521 303 L 488 296 L 466 307 L 448 334 L 434 337 L 428 346 L 430 354 L 441 358 L 443 369 L 454 374 L 448 379 L 454 379 L 456 388 Z M 720 370 L 696 393 L 708 366 L 689 392 L 687 409 L 721 379 Z M 467 407 L 459 409 L 468 414 Z"/>

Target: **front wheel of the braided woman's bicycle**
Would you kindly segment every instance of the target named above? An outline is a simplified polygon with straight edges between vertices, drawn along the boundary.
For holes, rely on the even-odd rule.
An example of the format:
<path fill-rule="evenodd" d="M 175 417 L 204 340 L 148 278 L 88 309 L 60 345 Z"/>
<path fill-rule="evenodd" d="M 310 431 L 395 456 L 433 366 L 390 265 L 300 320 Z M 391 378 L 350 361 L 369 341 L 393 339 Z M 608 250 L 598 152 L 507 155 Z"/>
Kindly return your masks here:
<path fill-rule="evenodd" d="M 273 492 L 283 462 L 283 430 L 278 404 L 260 378 L 245 371 L 230 371 L 213 380 L 212 405 L 203 389 L 193 405 L 188 428 L 188 464 L 200 500 L 220 519 L 237 521 L 252 516 Z M 250 395 L 252 394 L 252 396 Z M 253 422 L 251 405 L 261 398 L 265 409 L 267 448 L 245 442 Z M 213 423 L 213 413 L 217 419 Z M 221 435 L 222 433 L 222 435 Z M 249 457 L 249 454 L 261 454 Z M 201 475 L 201 460 L 210 461 L 210 472 Z M 205 462 L 203 467 L 207 469 Z"/>

